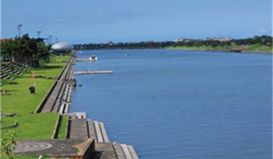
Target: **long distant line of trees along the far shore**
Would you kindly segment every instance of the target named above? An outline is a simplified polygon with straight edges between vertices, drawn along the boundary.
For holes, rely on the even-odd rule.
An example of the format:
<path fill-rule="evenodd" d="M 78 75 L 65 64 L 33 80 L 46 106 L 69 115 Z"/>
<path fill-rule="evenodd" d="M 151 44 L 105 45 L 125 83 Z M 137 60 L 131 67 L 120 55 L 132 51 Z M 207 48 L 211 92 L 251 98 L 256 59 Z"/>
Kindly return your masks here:
<path fill-rule="evenodd" d="M 228 46 L 250 46 L 259 43 L 262 46 L 272 48 L 272 36 L 254 36 L 248 39 L 233 39 L 231 41 L 193 40 L 193 41 L 142 41 L 138 43 L 88 43 L 76 44 L 78 50 L 95 49 L 144 49 L 144 48 L 167 48 L 167 47 L 202 47 L 211 48 Z"/>

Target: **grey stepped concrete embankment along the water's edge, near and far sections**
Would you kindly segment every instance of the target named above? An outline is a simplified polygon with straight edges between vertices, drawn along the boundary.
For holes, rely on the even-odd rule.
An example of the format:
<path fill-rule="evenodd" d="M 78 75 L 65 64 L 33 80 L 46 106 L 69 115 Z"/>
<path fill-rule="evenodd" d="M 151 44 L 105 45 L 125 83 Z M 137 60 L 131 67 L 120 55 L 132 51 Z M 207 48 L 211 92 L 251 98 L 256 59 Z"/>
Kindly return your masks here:
<path fill-rule="evenodd" d="M 68 113 L 73 88 L 76 86 L 75 62 L 76 55 L 73 55 L 36 112 L 58 112 L 62 116 L 69 116 L 66 124 L 66 139 L 94 139 L 94 158 L 138 159 L 133 146 L 111 143 L 104 123 L 87 119 L 85 112 Z M 53 136 L 57 137 L 56 134 Z"/>

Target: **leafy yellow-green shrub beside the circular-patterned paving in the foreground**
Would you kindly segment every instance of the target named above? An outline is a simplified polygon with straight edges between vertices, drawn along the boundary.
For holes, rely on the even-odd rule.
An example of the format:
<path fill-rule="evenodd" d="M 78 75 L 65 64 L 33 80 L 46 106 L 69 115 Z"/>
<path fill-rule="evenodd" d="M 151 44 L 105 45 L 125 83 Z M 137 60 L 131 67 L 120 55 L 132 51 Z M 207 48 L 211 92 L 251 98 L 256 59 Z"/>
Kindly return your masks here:
<path fill-rule="evenodd" d="M 14 149 L 17 145 L 16 134 L 14 131 L 9 130 L 8 133 L 3 135 L 1 139 L 1 158 L 3 159 L 12 159 L 14 158 Z"/>

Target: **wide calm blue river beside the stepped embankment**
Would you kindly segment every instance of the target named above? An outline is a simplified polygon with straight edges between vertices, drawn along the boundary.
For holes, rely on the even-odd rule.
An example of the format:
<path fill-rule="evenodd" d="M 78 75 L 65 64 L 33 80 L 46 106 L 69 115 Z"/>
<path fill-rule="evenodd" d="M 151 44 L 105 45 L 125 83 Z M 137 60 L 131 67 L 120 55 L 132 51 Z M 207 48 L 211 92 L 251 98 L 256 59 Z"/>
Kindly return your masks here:
<path fill-rule="evenodd" d="M 127 53 L 127 56 L 125 56 Z M 104 122 L 139 158 L 272 158 L 272 55 L 82 50 L 70 112 Z"/>

